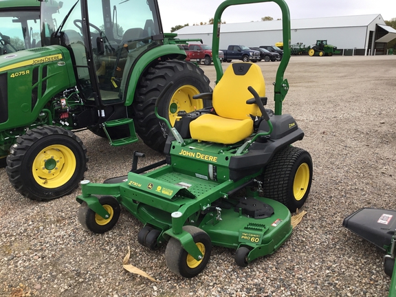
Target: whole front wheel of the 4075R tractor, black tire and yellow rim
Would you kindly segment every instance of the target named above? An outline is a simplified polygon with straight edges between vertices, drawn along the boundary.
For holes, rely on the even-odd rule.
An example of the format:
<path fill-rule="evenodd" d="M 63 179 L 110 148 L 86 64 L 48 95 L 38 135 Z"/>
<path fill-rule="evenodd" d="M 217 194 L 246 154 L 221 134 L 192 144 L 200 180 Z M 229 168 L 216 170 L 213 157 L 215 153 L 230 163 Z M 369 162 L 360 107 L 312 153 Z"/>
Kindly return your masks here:
<path fill-rule="evenodd" d="M 87 171 L 87 148 L 72 131 L 39 126 L 18 137 L 7 157 L 8 179 L 23 196 L 42 201 L 68 195 Z"/>

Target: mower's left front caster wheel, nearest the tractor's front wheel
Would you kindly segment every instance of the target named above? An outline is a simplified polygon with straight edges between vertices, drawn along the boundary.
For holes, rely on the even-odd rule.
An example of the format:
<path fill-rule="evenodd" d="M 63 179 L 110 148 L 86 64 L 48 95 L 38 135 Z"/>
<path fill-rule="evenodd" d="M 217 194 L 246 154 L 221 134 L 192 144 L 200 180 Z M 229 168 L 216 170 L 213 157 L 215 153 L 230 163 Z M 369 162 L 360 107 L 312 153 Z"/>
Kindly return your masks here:
<path fill-rule="evenodd" d="M 109 231 L 114 227 L 115 223 L 117 223 L 120 218 L 121 208 L 120 203 L 113 196 L 102 196 L 98 200 L 103 208 L 109 212 L 109 217 L 100 217 L 100 215 L 94 212 L 94 210 L 91 210 L 87 202 L 84 201 L 80 204 L 80 208 L 78 209 L 78 221 L 80 221 L 80 224 L 83 225 L 85 230 L 102 234 Z"/>

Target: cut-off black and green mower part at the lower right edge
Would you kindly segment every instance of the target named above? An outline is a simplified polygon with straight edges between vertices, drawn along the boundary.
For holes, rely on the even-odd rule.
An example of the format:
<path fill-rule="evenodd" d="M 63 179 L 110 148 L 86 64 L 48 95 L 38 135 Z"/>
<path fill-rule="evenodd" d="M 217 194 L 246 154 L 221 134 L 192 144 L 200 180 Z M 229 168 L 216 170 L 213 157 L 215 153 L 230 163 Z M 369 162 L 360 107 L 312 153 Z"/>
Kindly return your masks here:
<path fill-rule="evenodd" d="M 342 225 L 385 253 L 384 272 L 392 278 L 388 296 L 396 297 L 396 210 L 362 208 L 346 217 Z"/>

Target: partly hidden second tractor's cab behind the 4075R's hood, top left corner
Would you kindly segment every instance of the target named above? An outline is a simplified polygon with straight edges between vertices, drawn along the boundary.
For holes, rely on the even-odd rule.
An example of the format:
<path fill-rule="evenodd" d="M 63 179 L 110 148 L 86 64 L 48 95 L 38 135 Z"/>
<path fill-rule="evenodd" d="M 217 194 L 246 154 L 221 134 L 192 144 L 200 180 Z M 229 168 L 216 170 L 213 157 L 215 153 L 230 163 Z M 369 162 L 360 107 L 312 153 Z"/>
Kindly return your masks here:
<path fill-rule="evenodd" d="M 40 2 L 0 1 L 0 55 L 39 45 Z"/>

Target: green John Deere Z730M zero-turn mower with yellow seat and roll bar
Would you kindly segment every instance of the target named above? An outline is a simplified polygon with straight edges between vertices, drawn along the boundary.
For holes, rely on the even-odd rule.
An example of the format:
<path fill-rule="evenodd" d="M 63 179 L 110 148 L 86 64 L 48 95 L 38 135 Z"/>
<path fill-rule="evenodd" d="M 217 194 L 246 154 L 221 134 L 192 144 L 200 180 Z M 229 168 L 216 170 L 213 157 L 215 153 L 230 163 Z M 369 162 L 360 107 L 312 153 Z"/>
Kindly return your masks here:
<path fill-rule="evenodd" d="M 305 203 L 313 168 L 309 153 L 292 146 L 303 139 L 303 131 L 292 115 L 281 114 L 289 89 L 283 79 L 289 47 L 276 74 L 274 111 L 265 109 L 258 65 L 233 63 L 223 74 L 218 56 L 223 10 L 259 2 L 267 1 L 228 0 L 217 8 L 212 45 L 218 83 L 212 92 L 194 96 L 211 100 L 212 107 L 179 111 L 173 127 L 156 109 L 172 131 L 166 158 L 137 169 L 142 153 L 135 153 L 127 176 L 103 184 L 81 182 L 76 200 L 85 229 L 107 232 L 123 206 L 144 225 L 137 241 L 151 250 L 166 244 L 169 269 L 186 278 L 203 270 L 212 245 L 236 250 L 236 264 L 245 267 L 291 236 L 291 212 Z M 275 2 L 283 12 L 283 42 L 289 44 L 289 9 L 283 0 Z"/>

